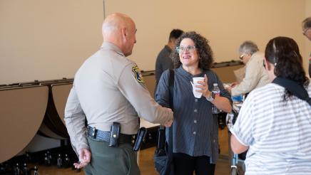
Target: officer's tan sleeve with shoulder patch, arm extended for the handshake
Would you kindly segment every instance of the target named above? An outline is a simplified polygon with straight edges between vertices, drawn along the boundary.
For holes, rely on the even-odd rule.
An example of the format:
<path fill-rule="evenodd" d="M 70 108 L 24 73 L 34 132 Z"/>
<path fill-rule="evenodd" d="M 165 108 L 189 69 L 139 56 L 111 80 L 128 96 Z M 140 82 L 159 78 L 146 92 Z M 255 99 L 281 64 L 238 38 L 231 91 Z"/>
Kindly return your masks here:
<path fill-rule="evenodd" d="M 158 105 L 151 97 L 136 65 L 129 64 L 123 69 L 118 78 L 118 88 L 131 102 L 139 117 L 159 124 L 173 120 L 173 112 Z"/>

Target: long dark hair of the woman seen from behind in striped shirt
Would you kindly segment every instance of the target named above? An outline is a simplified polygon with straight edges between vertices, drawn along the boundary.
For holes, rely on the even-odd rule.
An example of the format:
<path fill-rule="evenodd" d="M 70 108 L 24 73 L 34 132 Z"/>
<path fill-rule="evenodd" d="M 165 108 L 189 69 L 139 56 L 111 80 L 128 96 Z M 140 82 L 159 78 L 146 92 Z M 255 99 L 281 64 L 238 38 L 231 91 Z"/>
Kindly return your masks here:
<path fill-rule="evenodd" d="M 302 67 L 302 56 L 292 38 L 284 36 L 272 38 L 265 48 L 265 58 L 275 65 L 275 76 L 293 80 L 305 88 L 309 85 L 309 79 Z M 290 96 L 292 93 L 285 90 L 284 100 Z"/>

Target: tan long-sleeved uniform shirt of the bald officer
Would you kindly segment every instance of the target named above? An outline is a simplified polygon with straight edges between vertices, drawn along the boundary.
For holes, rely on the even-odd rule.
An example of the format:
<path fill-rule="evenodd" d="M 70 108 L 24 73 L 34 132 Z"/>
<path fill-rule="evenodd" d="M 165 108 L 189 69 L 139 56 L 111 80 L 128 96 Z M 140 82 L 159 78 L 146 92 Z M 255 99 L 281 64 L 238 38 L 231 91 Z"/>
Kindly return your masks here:
<path fill-rule="evenodd" d="M 110 131 L 113 122 L 120 122 L 121 133 L 136 134 L 138 116 L 164 124 L 173 112 L 153 100 L 136 63 L 104 42 L 79 68 L 68 96 L 65 122 L 73 149 L 88 148 L 85 117 L 96 129 Z"/>

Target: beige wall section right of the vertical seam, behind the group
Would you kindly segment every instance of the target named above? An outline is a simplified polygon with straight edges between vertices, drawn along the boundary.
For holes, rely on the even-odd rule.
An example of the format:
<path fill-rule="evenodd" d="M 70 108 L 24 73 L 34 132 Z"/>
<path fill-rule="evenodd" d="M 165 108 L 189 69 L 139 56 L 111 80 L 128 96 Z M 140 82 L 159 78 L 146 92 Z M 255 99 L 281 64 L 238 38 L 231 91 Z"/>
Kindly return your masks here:
<path fill-rule="evenodd" d="M 106 14 L 122 11 L 137 24 L 137 44 L 131 58 L 142 69 L 154 68 L 154 60 L 172 28 L 198 31 L 208 38 L 216 62 L 238 58 L 245 40 L 265 44 L 275 36 L 295 38 L 302 47 L 301 21 L 305 1 L 295 0 L 106 0 Z"/>

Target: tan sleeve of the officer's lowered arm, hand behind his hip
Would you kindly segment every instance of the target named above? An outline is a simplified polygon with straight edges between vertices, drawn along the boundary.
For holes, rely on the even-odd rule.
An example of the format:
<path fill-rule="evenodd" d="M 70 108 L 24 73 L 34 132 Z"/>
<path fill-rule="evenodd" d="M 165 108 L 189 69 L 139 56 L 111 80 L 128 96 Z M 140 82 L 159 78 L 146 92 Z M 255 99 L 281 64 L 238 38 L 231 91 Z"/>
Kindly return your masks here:
<path fill-rule="evenodd" d="M 64 120 L 71 140 L 71 145 L 76 154 L 78 154 L 79 150 L 82 148 L 89 149 L 86 139 L 86 115 L 81 108 L 74 85 L 68 96 Z"/>

